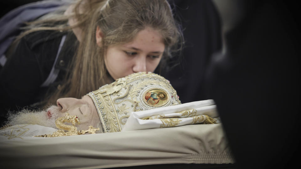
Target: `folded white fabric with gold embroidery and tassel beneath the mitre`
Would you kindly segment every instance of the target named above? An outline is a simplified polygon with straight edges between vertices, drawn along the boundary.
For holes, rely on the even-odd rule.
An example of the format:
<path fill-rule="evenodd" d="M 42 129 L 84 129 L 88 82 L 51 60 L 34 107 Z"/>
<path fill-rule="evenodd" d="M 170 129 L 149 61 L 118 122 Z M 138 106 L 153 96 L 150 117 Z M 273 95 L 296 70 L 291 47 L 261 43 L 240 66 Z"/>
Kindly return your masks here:
<path fill-rule="evenodd" d="M 218 124 L 218 112 L 213 100 L 202 100 L 132 112 L 122 131 L 176 127 L 187 124 Z"/>

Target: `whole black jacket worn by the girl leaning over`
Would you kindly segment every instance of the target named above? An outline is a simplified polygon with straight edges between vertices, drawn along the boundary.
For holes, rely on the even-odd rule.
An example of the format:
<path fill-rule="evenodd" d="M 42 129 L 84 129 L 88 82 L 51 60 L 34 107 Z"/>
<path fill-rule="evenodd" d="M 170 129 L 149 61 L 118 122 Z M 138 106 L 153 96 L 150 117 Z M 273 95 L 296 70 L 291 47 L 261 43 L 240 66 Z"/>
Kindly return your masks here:
<path fill-rule="evenodd" d="M 57 55 L 64 35 L 66 40 Z M 58 31 L 34 32 L 19 41 L 0 72 L 2 118 L 7 110 L 17 110 L 28 105 L 36 107 L 47 91 L 54 91 L 62 83 L 76 50 L 76 45 L 72 45 L 77 44 L 75 41 L 77 39 L 73 33 Z M 49 81 L 51 69 L 57 76 Z M 45 82 L 47 79 L 48 82 Z"/>

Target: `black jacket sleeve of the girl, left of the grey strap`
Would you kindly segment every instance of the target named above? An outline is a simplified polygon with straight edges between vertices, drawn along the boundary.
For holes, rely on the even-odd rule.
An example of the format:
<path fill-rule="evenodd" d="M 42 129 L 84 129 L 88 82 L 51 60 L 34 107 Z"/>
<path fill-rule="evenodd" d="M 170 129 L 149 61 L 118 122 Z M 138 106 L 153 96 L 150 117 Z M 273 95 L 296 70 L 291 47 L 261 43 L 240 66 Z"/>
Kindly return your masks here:
<path fill-rule="evenodd" d="M 41 32 L 23 37 L 0 72 L 0 108 L 17 110 L 34 103 L 55 61 L 61 37 Z"/>

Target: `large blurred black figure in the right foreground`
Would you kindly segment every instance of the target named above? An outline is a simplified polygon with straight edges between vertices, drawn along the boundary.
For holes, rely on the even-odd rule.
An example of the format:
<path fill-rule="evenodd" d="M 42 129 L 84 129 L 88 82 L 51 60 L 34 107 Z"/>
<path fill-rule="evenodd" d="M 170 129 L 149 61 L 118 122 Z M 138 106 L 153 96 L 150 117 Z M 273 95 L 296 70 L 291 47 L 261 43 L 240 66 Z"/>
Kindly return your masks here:
<path fill-rule="evenodd" d="M 225 54 L 211 58 L 206 91 L 238 168 L 300 168 L 299 5 L 240 2 L 245 12 L 225 35 Z"/>

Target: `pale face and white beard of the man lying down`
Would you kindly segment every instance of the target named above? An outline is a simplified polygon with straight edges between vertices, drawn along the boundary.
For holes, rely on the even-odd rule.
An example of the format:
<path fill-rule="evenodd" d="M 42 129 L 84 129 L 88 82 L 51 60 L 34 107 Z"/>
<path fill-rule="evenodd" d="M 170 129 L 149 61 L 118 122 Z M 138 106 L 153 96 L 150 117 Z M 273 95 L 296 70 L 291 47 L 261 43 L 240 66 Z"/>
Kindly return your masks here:
<path fill-rule="evenodd" d="M 50 106 L 43 111 L 22 110 L 17 114 L 10 114 L 8 117 L 9 124 L 39 124 L 55 128 L 55 119 L 65 116 L 68 112 L 70 115 L 78 115 L 80 125 L 76 127 L 80 130 L 88 129 L 88 126 L 100 127 L 100 119 L 92 99 L 84 96 L 82 99 L 60 98 L 57 100 L 57 106 Z"/>

